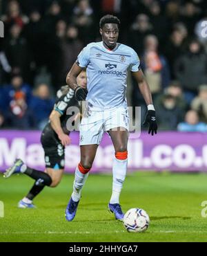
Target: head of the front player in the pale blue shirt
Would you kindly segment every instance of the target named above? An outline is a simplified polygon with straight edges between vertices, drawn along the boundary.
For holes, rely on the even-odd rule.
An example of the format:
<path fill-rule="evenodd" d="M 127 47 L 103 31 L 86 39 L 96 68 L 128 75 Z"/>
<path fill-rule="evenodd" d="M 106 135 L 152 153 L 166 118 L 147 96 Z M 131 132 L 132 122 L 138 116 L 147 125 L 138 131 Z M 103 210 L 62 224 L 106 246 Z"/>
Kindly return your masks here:
<path fill-rule="evenodd" d="M 115 48 L 119 37 L 119 19 L 112 15 L 105 15 L 101 18 L 99 26 L 103 43 L 108 48 Z"/>

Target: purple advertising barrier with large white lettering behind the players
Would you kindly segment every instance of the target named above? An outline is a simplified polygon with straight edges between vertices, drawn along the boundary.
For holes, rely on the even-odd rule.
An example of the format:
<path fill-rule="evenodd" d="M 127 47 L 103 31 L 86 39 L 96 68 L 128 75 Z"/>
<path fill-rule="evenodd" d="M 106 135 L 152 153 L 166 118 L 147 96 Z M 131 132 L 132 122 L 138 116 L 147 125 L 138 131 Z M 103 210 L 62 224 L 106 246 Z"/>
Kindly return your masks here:
<path fill-rule="evenodd" d="M 0 170 L 3 171 L 21 158 L 38 170 L 44 169 L 44 154 L 40 131 L 0 131 Z M 74 172 L 80 159 L 79 133 L 70 135 L 72 144 L 66 147 L 66 172 Z M 114 148 L 108 134 L 103 135 L 97 150 L 92 172 L 111 172 Z M 207 171 L 207 134 L 159 132 L 150 136 L 130 136 L 128 171 L 171 170 L 179 172 Z"/>

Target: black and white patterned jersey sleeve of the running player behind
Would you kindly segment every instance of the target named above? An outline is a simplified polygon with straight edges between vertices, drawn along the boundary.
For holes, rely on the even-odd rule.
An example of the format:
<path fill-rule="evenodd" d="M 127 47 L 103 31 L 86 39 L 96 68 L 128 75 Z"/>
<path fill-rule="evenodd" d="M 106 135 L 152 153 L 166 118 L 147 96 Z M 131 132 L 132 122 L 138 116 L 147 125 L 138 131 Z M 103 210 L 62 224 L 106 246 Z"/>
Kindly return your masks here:
<path fill-rule="evenodd" d="M 70 89 L 66 95 L 62 95 L 61 98 L 57 100 L 57 102 L 55 103 L 54 109 L 58 111 L 62 116 L 63 113 L 66 112 L 68 107 L 72 105 L 73 98 L 74 98 L 74 91 Z"/>

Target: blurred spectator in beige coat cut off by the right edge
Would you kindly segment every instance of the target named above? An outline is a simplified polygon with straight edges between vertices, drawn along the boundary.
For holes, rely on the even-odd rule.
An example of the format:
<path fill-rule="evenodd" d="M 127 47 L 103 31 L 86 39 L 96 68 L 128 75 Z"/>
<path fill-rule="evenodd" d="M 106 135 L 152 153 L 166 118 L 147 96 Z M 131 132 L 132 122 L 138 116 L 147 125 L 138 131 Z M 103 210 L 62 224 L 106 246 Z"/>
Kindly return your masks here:
<path fill-rule="evenodd" d="M 191 102 L 191 108 L 197 111 L 199 120 L 207 123 L 207 84 L 199 86 L 199 93 Z"/>

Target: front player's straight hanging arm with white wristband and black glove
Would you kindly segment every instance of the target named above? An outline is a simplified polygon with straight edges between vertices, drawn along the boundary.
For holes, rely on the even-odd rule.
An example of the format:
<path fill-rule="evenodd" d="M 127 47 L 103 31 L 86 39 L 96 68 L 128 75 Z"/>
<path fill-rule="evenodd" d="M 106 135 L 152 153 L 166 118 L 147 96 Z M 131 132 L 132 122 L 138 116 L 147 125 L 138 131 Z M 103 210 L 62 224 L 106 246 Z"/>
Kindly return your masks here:
<path fill-rule="evenodd" d="M 141 70 L 137 72 L 132 72 L 132 74 L 134 75 L 137 81 L 139 90 L 143 95 L 146 105 L 148 107 L 148 112 L 146 114 L 146 118 L 144 120 L 143 125 L 146 125 L 148 123 L 149 125 L 148 134 L 152 134 L 153 136 L 154 133 L 157 134 L 157 121 L 156 121 L 156 115 L 155 115 L 155 108 L 152 103 L 152 95 L 150 92 L 150 87 L 146 82 L 144 73 Z"/>

